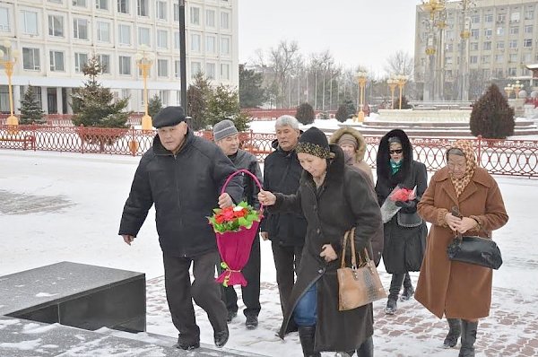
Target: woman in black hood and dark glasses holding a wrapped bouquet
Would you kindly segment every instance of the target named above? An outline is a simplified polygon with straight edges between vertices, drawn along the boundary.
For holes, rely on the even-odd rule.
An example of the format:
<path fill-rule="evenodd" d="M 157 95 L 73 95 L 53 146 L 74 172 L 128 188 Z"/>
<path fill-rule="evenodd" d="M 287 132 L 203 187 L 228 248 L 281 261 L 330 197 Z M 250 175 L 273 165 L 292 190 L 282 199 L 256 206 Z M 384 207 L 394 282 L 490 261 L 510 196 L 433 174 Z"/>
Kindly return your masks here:
<path fill-rule="evenodd" d="M 403 130 L 395 129 L 381 138 L 377 149 L 376 193 L 379 205 L 383 205 L 395 187 L 413 189 L 416 197 L 409 201 L 397 201 L 400 210 L 384 224 L 385 244 L 383 263 L 386 272 L 392 274 L 385 312 L 394 315 L 397 300 L 404 284 L 400 300 L 412 298 L 409 272 L 421 270 L 426 248 L 428 228 L 417 213 L 417 203 L 428 187 L 426 166 L 412 159 L 412 145 Z"/>

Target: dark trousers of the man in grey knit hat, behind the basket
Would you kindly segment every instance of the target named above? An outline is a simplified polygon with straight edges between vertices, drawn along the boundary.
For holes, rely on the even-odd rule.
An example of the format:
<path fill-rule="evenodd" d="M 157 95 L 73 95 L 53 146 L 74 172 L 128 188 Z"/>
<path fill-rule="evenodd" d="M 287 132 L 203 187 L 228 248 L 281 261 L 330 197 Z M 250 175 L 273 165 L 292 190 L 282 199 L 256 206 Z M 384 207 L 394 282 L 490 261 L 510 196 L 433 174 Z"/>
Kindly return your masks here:
<path fill-rule="evenodd" d="M 258 316 L 260 313 L 260 239 L 256 233 L 256 238 L 250 248 L 250 257 L 247 265 L 241 270 L 241 273 L 247 279 L 247 286 L 241 286 L 241 296 L 246 309 L 243 310 L 245 316 Z M 222 272 L 219 266 L 219 272 Z M 222 286 L 222 300 L 226 304 L 226 309 L 236 311 L 238 308 L 238 294 L 233 286 Z"/>

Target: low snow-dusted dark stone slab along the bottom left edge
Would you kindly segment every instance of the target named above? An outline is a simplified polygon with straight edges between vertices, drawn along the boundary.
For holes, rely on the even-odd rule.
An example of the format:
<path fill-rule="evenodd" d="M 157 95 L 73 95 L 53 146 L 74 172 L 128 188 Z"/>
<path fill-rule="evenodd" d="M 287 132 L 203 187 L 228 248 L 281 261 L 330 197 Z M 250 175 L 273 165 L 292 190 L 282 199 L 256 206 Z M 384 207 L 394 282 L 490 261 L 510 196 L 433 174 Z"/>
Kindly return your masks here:
<path fill-rule="evenodd" d="M 140 334 L 139 334 L 140 335 Z M 239 357 L 260 356 L 233 350 L 202 346 L 192 352 L 162 345 L 160 338 L 147 334 L 136 338 L 104 335 L 63 325 L 8 318 L 0 316 L 0 356 L 2 357 L 75 357 L 75 356 L 129 356 L 129 357 Z M 148 339 L 153 342 L 144 341 Z M 166 339 L 166 337 L 165 337 Z"/>

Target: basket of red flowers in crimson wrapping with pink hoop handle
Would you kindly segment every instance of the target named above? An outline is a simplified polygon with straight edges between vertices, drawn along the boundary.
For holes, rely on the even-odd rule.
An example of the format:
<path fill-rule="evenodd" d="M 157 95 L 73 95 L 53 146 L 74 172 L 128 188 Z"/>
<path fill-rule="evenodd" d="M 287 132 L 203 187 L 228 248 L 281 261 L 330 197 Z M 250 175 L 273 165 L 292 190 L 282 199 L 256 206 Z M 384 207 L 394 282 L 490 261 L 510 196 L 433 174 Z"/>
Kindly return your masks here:
<path fill-rule="evenodd" d="M 246 174 L 256 181 L 256 185 L 262 188 L 255 175 L 248 170 L 237 170 L 232 173 L 222 186 L 221 194 L 230 183 L 230 179 L 239 173 Z M 246 202 L 241 202 L 231 210 L 213 210 L 213 217 L 209 217 L 210 224 L 217 238 L 217 247 L 221 253 L 222 274 L 216 278 L 217 283 L 224 286 L 241 285 L 247 286 L 247 279 L 241 273 L 250 257 L 252 243 L 256 239 L 256 233 L 263 217 L 263 205 L 256 211 Z M 236 213 L 236 214 L 234 214 Z M 239 214 L 237 214 L 239 213 Z"/>

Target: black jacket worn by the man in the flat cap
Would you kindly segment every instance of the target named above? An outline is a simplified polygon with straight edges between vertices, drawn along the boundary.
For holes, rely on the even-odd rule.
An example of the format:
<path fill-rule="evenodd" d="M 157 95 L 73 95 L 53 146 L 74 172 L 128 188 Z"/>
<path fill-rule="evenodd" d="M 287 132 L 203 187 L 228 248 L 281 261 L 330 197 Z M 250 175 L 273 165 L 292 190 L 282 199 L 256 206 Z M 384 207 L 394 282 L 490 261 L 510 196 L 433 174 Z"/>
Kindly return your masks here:
<path fill-rule="evenodd" d="M 155 204 L 162 251 L 174 257 L 196 257 L 217 249 L 207 217 L 218 206 L 222 185 L 236 170 L 217 145 L 190 130 L 185 140 L 174 155 L 155 136 L 134 174 L 118 233 L 136 236 Z M 243 192 L 240 181 L 236 176 L 226 189 L 235 202 Z"/>

